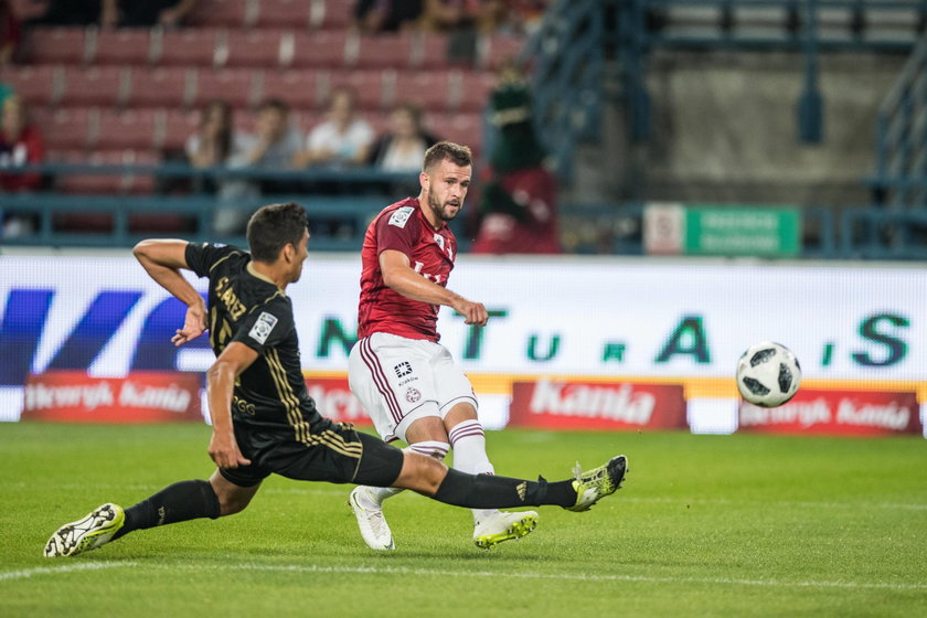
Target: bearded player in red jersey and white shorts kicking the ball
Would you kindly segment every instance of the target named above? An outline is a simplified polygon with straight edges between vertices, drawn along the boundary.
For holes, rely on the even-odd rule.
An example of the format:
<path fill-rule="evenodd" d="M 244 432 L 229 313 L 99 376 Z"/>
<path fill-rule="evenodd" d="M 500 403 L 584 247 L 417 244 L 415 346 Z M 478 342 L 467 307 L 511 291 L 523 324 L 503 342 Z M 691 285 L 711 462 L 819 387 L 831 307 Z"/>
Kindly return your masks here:
<path fill-rule="evenodd" d="M 441 305 L 468 324 L 486 326 L 489 318 L 481 302 L 446 287 L 457 257 L 448 222 L 464 207 L 471 175 L 470 149 L 438 142 L 425 153 L 418 196 L 387 206 L 371 223 L 361 251 L 359 341 L 349 380 L 386 441 L 401 439 L 437 459 L 454 448 L 455 469 L 492 475 L 473 388 L 436 330 Z M 398 491 L 360 486 L 351 492 L 371 548 L 395 547 L 382 504 Z M 473 542 L 488 548 L 524 536 L 536 523 L 534 511 L 473 509 Z"/>

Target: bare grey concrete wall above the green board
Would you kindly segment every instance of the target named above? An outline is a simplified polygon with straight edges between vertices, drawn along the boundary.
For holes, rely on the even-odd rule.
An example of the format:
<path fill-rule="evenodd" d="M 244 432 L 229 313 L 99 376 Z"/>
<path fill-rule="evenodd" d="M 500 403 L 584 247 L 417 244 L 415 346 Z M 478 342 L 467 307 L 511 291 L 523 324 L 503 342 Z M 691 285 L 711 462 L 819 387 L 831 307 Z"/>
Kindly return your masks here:
<path fill-rule="evenodd" d="M 624 182 L 649 200 L 869 204 L 876 110 L 905 60 L 822 54 L 823 137 L 802 143 L 802 54 L 658 50 L 647 73 L 651 139 L 625 153 Z"/>

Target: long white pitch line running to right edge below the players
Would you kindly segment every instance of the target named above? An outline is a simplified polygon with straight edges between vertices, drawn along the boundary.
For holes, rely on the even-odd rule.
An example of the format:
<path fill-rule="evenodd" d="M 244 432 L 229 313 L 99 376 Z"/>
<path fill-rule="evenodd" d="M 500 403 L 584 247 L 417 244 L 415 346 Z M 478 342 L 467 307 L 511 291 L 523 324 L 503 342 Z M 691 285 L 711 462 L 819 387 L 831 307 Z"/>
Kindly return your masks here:
<path fill-rule="evenodd" d="M 164 565 L 168 568 L 167 565 Z M 206 568 L 206 565 L 177 565 L 170 568 Z M 354 573 L 359 575 L 439 575 L 447 577 L 493 577 L 502 573 L 490 571 L 435 571 L 430 568 L 405 568 L 393 566 L 322 566 L 322 565 L 264 565 L 239 564 L 213 566 L 234 571 L 280 571 L 294 573 Z M 578 582 L 643 582 L 652 584 L 718 584 L 732 586 L 765 586 L 775 588 L 844 588 L 925 590 L 927 584 L 854 583 L 854 582 L 778 582 L 775 579 L 735 579 L 729 577 L 654 577 L 649 575 L 595 575 L 586 573 L 505 573 L 505 577 L 523 579 L 573 579 Z"/>

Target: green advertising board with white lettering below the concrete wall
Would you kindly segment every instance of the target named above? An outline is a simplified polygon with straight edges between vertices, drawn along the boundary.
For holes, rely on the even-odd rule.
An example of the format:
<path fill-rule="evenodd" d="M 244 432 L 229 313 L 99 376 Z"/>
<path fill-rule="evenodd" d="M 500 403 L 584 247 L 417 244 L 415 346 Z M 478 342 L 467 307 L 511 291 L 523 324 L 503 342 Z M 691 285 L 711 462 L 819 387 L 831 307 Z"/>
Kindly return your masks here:
<path fill-rule="evenodd" d="M 788 257 L 801 252 L 797 207 L 685 205 L 683 255 Z"/>

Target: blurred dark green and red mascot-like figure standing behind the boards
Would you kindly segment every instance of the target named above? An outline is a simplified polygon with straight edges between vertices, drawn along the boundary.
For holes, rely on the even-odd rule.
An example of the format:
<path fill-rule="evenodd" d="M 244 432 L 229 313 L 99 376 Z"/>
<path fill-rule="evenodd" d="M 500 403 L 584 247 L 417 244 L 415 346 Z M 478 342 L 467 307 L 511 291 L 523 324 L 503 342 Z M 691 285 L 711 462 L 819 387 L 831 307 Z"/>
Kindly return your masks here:
<path fill-rule="evenodd" d="M 561 253 L 554 174 L 534 132 L 531 95 L 520 75 L 503 70 L 490 103 L 499 136 L 490 154 L 472 253 Z"/>

